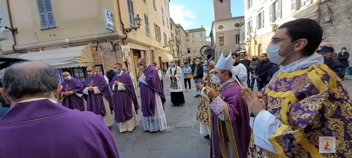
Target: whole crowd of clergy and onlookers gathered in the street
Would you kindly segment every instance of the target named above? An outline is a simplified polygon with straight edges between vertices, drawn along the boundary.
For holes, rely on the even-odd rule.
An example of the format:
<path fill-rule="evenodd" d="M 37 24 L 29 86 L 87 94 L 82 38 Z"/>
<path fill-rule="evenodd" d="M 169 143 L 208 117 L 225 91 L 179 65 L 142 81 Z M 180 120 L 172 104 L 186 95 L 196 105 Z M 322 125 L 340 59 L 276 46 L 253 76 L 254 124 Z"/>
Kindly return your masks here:
<path fill-rule="evenodd" d="M 332 59 L 331 46 L 319 47 L 321 36 L 315 20 L 292 20 L 278 27 L 260 59 L 222 52 L 217 62 L 196 58 L 184 68 L 171 61 L 167 85 L 156 63 L 139 58 L 141 106 L 134 77 L 120 63 L 106 77 L 88 66 L 83 83 L 63 72 L 61 84 L 44 62 L 13 64 L 0 89 L 11 106 L 0 119 L 0 157 L 119 157 L 109 130 L 114 121 L 120 132 L 132 131 L 141 109 L 143 129 L 163 131 L 164 89 L 173 106 L 182 106 L 191 79 L 212 158 L 351 157 L 352 101 L 337 71 L 345 71 L 349 54 L 342 48 Z"/>

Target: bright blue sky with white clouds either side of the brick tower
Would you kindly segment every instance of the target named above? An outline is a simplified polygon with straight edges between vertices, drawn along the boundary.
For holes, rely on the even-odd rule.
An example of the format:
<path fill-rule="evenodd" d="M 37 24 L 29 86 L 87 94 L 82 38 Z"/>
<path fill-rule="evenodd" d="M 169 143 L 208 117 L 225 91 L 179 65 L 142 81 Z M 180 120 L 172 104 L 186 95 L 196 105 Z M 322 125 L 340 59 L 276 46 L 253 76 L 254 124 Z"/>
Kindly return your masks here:
<path fill-rule="evenodd" d="M 207 29 L 209 35 L 214 20 L 213 0 L 170 0 L 170 17 L 175 23 L 181 23 L 184 29 Z M 231 1 L 232 16 L 244 15 L 244 0 Z"/>

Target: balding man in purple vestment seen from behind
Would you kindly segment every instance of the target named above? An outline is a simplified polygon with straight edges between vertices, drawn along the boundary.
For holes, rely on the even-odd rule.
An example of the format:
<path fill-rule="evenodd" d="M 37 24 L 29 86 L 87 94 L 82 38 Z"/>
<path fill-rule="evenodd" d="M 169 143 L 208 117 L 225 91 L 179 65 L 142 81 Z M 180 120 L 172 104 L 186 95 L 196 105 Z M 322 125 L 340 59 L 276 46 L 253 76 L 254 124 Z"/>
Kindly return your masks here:
<path fill-rule="evenodd" d="M 0 119 L 0 157 L 118 158 L 102 116 L 55 101 L 58 80 L 55 69 L 40 61 L 5 70 L 0 91 L 12 108 Z"/>

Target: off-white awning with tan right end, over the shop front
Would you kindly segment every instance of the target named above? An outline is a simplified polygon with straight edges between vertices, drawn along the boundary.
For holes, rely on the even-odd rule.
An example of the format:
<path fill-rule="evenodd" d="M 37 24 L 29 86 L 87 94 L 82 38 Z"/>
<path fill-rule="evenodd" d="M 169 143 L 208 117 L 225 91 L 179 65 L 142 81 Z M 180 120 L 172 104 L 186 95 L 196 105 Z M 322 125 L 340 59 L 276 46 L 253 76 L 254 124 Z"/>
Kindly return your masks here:
<path fill-rule="evenodd" d="M 19 57 L 27 60 L 40 60 L 55 68 L 84 67 L 94 62 L 90 45 L 29 52 Z"/>

